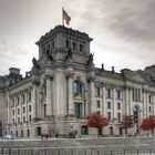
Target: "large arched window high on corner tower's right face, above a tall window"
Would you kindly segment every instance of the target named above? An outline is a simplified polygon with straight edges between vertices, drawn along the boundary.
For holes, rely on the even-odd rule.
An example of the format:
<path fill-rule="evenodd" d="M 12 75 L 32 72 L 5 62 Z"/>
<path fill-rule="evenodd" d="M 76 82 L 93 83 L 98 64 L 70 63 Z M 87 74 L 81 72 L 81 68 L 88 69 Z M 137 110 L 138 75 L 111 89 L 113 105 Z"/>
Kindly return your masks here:
<path fill-rule="evenodd" d="M 80 81 L 74 81 L 73 93 L 82 94 L 84 91 L 83 84 Z"/>

